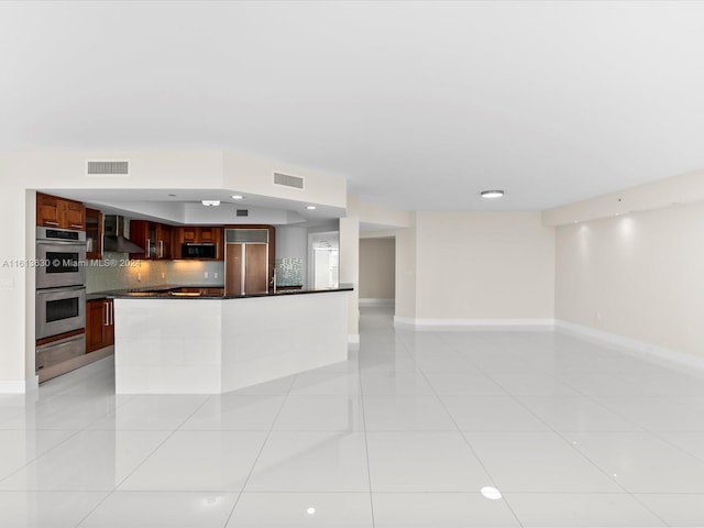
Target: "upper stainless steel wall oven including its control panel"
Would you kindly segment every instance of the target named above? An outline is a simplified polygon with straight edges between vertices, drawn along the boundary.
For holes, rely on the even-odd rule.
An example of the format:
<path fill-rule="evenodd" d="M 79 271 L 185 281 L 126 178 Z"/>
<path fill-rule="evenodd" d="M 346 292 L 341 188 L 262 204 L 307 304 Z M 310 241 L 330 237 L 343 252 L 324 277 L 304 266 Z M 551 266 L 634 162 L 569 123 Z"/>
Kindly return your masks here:
<path fill-rule="evenodd" d="M 86 284 L 86 232 L 36 228 L 36 288 Z"/>

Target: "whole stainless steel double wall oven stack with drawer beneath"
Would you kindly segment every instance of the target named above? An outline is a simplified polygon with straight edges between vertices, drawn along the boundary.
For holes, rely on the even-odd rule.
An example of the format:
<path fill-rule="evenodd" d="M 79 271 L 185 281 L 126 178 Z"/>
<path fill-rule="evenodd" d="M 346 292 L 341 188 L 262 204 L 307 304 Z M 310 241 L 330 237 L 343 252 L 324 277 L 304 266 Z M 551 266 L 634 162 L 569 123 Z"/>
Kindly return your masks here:
<path fill-rule="evenodd" d="M 36 228 L 36 372 L 43 381 L 86 352 L 86 232 Z"/>

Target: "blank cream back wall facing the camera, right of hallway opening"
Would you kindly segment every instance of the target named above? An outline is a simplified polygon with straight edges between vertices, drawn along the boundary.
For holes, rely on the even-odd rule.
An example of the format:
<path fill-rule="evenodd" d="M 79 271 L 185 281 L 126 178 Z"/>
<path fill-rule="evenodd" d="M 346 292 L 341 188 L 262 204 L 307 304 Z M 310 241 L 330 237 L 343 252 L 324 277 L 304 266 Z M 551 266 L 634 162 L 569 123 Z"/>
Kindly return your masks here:
<path fill-rule="evenodd" d="M 554 317 L 554 228 L 539 212 L 418 212 L 416 317 Z"/>

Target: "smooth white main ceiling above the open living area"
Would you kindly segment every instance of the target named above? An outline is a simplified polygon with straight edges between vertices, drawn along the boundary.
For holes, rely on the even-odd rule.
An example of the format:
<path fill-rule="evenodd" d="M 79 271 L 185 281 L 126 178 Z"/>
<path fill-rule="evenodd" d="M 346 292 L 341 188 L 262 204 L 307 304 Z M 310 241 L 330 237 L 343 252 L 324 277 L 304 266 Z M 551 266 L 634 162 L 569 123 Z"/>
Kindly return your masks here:
<path fill-rule="evenodd" d="M 704 168 L 702 20 L 674 1 L 2 1 L 0 148 L 234 150 L 400 209 L 541 210 Z"/>

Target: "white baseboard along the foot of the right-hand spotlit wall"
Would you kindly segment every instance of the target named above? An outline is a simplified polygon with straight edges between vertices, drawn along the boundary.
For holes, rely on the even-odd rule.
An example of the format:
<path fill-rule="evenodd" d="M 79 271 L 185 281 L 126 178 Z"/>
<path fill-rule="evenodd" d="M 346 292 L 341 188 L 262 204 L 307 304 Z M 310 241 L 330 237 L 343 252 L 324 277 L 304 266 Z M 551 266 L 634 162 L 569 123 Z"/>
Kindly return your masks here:
<path fill-rule="evenodd" d="M 562 321 L 560 319 L 557 319 L 554 321 L 554 328 L 557 331 L 563 333 L 593 340 L 598 342 L 600 344 L 618 346 L 618 349 L 624 352 L 634 353 L 640 356 L 645 355 L 647 356 L 647 359 L 656 360 L 661 363 L 667 363 L 669 365 L 674 364 L 686 369 L 696 369 L 704 371 L 704 358 L 698 358 L 684 352 L 679 352 L 676 350 L 666 349 L 664 346 L 658 346 L 657 344 L 625 338 L 616 333 L 595 330 L 590 327 L 583 327 L 582 324 Z"/>

